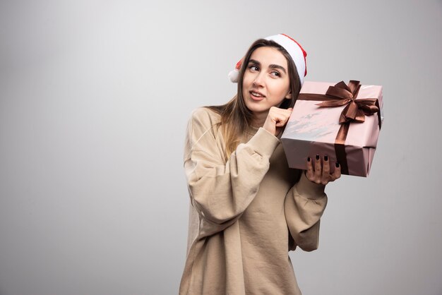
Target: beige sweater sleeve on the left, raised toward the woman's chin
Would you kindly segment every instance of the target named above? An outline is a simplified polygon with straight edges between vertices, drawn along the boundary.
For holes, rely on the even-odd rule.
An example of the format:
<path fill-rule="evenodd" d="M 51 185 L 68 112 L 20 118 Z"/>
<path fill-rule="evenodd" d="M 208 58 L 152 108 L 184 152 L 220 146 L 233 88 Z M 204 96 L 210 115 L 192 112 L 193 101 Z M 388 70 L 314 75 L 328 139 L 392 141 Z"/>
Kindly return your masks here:
<path fill-rule="evenodd" d="M 225 162 L 208 109 L 196 109 L 187 128 L 184 169 L 191 204 L 205 235 L 222 231 L 241 216 L 258 192 L 279 140 L 259 128 Z"/>

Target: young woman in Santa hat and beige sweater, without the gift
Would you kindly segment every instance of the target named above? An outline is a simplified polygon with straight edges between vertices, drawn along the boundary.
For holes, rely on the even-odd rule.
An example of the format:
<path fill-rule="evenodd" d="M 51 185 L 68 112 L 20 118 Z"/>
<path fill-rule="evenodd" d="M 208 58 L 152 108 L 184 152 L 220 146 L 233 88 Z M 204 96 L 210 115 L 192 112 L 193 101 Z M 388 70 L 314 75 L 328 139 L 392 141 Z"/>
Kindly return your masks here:
<path fill-rule="evenodd" d="M 196 109 L 184 149 L 191 200 L 179 294 L 301 294 L 288 251 L 318 246 L 328 157 L 289 169 L 282 130 L 306 74 L 287 35 L 254 42 L 237 64 L 237 95 Z M 235 79 L 235 78 L 234 78 Z"/>

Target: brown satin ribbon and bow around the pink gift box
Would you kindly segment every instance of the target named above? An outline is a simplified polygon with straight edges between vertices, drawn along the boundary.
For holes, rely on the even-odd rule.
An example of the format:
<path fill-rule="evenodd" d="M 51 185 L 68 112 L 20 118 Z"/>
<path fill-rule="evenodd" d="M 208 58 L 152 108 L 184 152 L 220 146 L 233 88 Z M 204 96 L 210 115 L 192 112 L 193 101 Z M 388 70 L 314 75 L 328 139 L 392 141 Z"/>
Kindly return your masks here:
<path fill-rule="evenodd" d="M 342 107 L 345 108 L 340 114 L 341 124 L 338 135 L 335 139 L 335 152 L 338 163 L 341 166 L 342 174 L 348 174 L 347 153 L 345 152 L 345 140 L 347 138 L 350 123 L 364 123 L 365 116 L 378 113 L 379 128 L 381 128 L 381 112 L 377 98 L 363 98 L 357 100 L 361 84 L 359 81 L 350 80 L 347 84 L 344 81 L 330 86 L 325 95 L 316 93 L 299 93 L 298 100 L 316 100 L 319 107 Z"/>

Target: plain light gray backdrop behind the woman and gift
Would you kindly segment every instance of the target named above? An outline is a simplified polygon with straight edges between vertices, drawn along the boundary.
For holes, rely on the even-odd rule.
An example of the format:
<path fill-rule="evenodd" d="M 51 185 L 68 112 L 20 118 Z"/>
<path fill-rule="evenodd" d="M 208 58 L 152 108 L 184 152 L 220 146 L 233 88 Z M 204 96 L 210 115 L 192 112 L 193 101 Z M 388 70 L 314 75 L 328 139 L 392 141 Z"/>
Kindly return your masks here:
<path fill-rule="evenodd" d="M 304 294 L 442 294 L 442 3 L 1 1 L 0 294 L 177 294 L 192 109 L 258 37 L 384 86 L 368 179 L 327 188 Z"/>

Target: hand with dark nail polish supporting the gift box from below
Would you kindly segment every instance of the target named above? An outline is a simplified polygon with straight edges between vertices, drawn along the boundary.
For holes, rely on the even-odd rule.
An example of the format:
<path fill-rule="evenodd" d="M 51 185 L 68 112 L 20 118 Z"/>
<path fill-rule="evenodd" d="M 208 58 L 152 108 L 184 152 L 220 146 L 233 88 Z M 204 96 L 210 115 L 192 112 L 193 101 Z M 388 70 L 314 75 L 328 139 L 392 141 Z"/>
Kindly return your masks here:
<path fill-rule="evenodd" d="M 335 171 L 333 171 L 333 174 L 330 174 L 330 162 L 328 161 L 328 157 L 324 156 L 321 163 L 321 157 L 316 155 L 314 159 L 314 167 L 313 159 L 310 157 L 307 159 L 307 171 L 305 173 L 309 181 L 325 185 L 330 181 L 335 181 L 340 178 L 341 167 L 340 164 L 336 163 Z"/>

